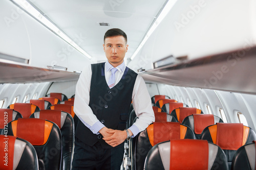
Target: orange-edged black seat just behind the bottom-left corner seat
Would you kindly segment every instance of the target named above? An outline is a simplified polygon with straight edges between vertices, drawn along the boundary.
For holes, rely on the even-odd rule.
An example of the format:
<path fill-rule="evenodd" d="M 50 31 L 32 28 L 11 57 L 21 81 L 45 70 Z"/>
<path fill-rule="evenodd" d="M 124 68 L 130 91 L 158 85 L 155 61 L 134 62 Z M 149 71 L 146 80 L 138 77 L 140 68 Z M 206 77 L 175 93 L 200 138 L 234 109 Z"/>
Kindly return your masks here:
<path fill-rule="evenodd" d="M 40 118 L 19 118 L 8 123 L 7 135 L 25 139 L 34 146 L 38 162 L 43 162 L 40 169 L 60 169 L 62 143 L 56 124 Z"/>

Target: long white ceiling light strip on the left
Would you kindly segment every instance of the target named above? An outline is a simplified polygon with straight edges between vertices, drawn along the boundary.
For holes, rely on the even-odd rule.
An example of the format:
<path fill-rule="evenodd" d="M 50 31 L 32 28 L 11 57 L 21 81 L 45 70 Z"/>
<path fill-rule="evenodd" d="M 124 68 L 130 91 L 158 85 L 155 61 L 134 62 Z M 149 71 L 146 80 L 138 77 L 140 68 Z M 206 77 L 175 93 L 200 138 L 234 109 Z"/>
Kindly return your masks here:
<path fill-rule="evenodd" d="M 15 5 L 17 5 L 19 8 L 23 9 L 25 12 L 27 12 L 30 16 L 35 18 L 37 21 L 42 23 L 45 27 L 47 27 L 49 30 L 51 30 L 53 33 L 58 35 L 60 38 L 68 42 L 71 46 L 76 48 L 77 51 L 82 53 L 87 58 L 91 59 L 92 57 L 82 48 L 77 45 L 69 36 L 67 36 L 64 32 L 62 32 L 52 21 L 50 21 L 43 13 L 38 11 L 34 6 L 32 6 L 28 1 L 26 0 L 11 0 Z"/>

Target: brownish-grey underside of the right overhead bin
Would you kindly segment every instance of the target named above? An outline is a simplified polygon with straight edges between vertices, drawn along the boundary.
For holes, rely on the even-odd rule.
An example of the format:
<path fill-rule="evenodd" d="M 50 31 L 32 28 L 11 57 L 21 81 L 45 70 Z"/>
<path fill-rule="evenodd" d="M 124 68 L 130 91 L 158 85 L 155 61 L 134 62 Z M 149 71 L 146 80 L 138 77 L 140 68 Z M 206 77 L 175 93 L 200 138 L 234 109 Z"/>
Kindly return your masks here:
<path fill-rule="evenodd" d="M 183 61 L 141 73 L 146 82 L 256 94 L 256 47 Z"/>

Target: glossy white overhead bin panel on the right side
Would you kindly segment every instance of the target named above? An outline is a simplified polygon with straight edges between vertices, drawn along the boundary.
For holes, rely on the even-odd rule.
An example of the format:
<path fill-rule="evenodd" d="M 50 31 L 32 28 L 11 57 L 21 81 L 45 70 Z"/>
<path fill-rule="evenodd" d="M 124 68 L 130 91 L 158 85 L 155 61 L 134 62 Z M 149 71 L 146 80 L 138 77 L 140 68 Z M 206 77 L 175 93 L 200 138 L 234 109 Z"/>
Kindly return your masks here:
<path fill-rule="evenodd" d="M 141 57 L 153 62 L 171 55 L 195 59 L 250 48 L 256 45 L 255 19 L 253 0 L 177 1 L 133 64 L 140 63 Z M 150 69 L 151 65 L 142 63 L 141 67 Z"/>

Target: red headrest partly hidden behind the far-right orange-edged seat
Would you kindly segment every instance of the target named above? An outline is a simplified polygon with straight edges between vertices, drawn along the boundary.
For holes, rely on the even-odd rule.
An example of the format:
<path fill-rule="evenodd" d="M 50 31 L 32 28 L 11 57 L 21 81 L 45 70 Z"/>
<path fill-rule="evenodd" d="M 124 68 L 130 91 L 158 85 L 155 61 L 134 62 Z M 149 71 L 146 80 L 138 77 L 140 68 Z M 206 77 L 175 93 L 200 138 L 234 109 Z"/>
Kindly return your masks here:
<path fill-rule="evenodd" d="M 214 115 L 212 114 L 193 114 L 195 134 L 201 134 L 204 128 L 214 125 Z"/>

